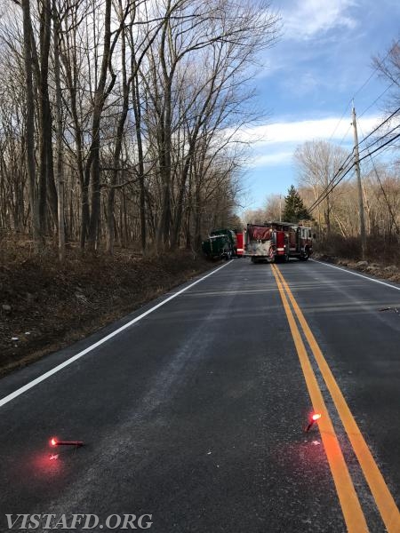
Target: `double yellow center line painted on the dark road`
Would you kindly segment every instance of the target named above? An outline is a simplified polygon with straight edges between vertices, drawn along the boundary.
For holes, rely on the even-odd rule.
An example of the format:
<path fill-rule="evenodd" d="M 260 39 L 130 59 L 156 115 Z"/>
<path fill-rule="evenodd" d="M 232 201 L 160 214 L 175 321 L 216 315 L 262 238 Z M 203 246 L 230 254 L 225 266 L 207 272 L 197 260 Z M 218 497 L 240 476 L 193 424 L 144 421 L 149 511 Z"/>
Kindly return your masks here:
<path fill-rule="evenodd" d="M 333 481 L 338 493 L 348 532 L 363 533 L 364 531 L 368 531 L 368 526 L 353 481 L 348 473 L 348 466 L 346 465 L 346 461 L 341 452 L 340 444 L 335 434 L 331 417 L 326 408 L 323 394 L 316 381 L 316 375 L 311 366 L 306 346 L 301 338 L 300 328 L 303 331 L 304 337 L 307 339 L 310 351 L 314 355 L 316 364 L 318 365 L 321 375 L 324 378 L 324 382 L 332 396 L 333 403 L 339 413 L 345 431 L 348 434 L 348 440 L 354 449 L 358 462 L 364 473 L 365 480 L 371 489 L 372 496 L 375 499 L 382 521 L 384 522 L 388 533 L 399 533 L 400 513 L 397 509 L 396 502 L 380 473 L 380 469 L 378 468 L 378 465 L 376 465 L 372 453 L 364 441 L 364 437 L 356 424 L 356 420 L 348 409 L 348 404 L 344 399 L 343 394 L 341 394 L 340 388 L 332 375 L 332 371 L 316 342 L 316 338 L 309 329 L 308 323 L 292 295 L 292 291 L 284 280 L 283 274 L 276 265 L 272 265 L 272 272 L 275 276 L 276 284 L 284 304 L 284 311 L 299 355 L 301 369 L 303 370 L 306 379 L 308 394 L 310 395 L 314 410 L 322 414 L 318 426 L 324 443 L 328 463 L 331 467 Z M 296 322 L 296 319 L 294 318 L 293 312 L 297 317 L 300 328 L 298 322 Z"/>

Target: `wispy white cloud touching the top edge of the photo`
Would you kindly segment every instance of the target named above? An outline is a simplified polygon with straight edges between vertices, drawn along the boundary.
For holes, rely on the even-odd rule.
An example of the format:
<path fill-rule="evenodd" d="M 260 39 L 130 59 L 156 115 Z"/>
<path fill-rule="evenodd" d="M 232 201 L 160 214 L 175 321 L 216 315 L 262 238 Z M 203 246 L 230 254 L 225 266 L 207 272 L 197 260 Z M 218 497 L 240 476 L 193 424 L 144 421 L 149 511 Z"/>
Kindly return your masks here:
<path fill-rule="evenodd" d="M 332 28 L 356 28 L 357 20 L 349 13 L 354 6 L 354 0 L 296 0 L 281 12 L 284 36 L 304 40 Z"/>

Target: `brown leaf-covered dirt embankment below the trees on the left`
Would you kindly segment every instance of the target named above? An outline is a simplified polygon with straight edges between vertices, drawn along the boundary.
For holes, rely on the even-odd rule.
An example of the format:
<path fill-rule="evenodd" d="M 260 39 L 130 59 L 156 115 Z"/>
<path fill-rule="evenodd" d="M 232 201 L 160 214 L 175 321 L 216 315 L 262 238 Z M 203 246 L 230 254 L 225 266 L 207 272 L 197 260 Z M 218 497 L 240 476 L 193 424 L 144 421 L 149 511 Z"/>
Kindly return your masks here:
<path fill-rule="evenodd" d="M 0 375 L 36 361 L 214 267 L 192 253 L 0 258 Z"/>

